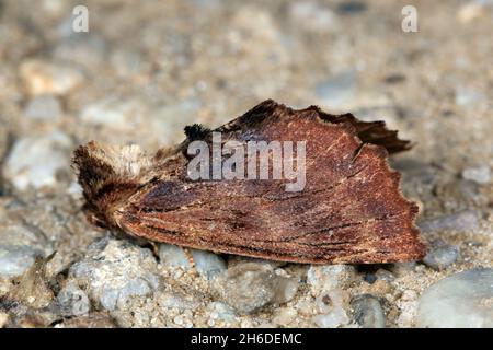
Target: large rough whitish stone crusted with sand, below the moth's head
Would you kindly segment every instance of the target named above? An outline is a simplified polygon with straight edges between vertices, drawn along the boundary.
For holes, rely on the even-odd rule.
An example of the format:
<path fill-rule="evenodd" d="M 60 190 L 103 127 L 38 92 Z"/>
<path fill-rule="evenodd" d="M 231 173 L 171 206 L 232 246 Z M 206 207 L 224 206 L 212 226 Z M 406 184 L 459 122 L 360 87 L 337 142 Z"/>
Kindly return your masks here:
<path fill-rule="evenodd" d="M 107 311 L 125 310 L 133 298 L 152 295 L 160 284 L 149 249 L 108 237 L 94 243 L 85 258 L 70 267 L 69 278 Z"/>

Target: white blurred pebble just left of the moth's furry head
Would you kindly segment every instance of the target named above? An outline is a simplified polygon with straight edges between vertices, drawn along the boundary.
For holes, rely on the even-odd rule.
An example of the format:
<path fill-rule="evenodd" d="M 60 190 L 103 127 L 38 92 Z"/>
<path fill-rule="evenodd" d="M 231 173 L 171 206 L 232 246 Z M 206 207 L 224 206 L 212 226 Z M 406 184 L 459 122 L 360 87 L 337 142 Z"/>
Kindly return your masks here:
<path fill-rule="evenodd" d="M 4 176 L 18 190 L 59 185 L 57 174 L 70 171 L 70 138 L 53 131 L 15 141 L 5 165 Z"/>

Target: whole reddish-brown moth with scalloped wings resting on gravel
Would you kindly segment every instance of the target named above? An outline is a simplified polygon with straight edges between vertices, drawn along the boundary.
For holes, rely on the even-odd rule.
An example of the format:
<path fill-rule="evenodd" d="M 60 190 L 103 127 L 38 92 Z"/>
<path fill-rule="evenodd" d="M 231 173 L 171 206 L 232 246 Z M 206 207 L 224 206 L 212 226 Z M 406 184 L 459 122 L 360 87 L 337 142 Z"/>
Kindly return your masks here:
<path fill-rule="evenodd" d="M 192 180 L 188 144 L 238 140 L 307 140 L 306 187 L 285 180 Z M 417 207 L 400 189 L 388 153 L 409 141 L 383 121 L 295 110 L 265 101 L 208 130 L 194 125 L 175 148 L 148 156 L 136 145 L 90 142 L 74 151 L 90 220 L 127 234 L 198 249 L 312 264 L 420 259 L 425 245 Z"/>

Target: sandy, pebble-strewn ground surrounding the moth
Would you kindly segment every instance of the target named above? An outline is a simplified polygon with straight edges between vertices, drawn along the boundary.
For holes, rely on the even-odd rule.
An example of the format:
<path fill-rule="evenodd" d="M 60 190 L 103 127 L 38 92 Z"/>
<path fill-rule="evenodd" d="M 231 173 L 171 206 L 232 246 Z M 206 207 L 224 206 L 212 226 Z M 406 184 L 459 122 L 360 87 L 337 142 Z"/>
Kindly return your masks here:
<path fill-rule="evenodd" d="M 80 3 L 89 33 L 71 28 Z M 493 267 L 493 2 L 413 1 L 404 33 L 408 3 L 0 1 L 0 327 L 493 326 L 493 276 L 474 269 Z M 421 207 L 424 261 L 192 252 L 193 267 L 87 223 L 78 144 L 152 151 L 266 98 L 415 142 L 391 163 Z"/>

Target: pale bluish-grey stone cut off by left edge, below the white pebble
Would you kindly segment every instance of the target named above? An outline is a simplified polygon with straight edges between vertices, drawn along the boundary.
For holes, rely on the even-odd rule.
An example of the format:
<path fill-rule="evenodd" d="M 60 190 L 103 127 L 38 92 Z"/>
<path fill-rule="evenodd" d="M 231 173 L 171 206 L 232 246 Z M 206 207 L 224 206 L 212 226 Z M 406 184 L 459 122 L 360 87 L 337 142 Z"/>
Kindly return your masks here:
<path fill-rule="evenodd" d="M 0 245 L 0 278 L 14 278 L 24 273 L 36 256 L 43 253 L 24 245 Z"/>

